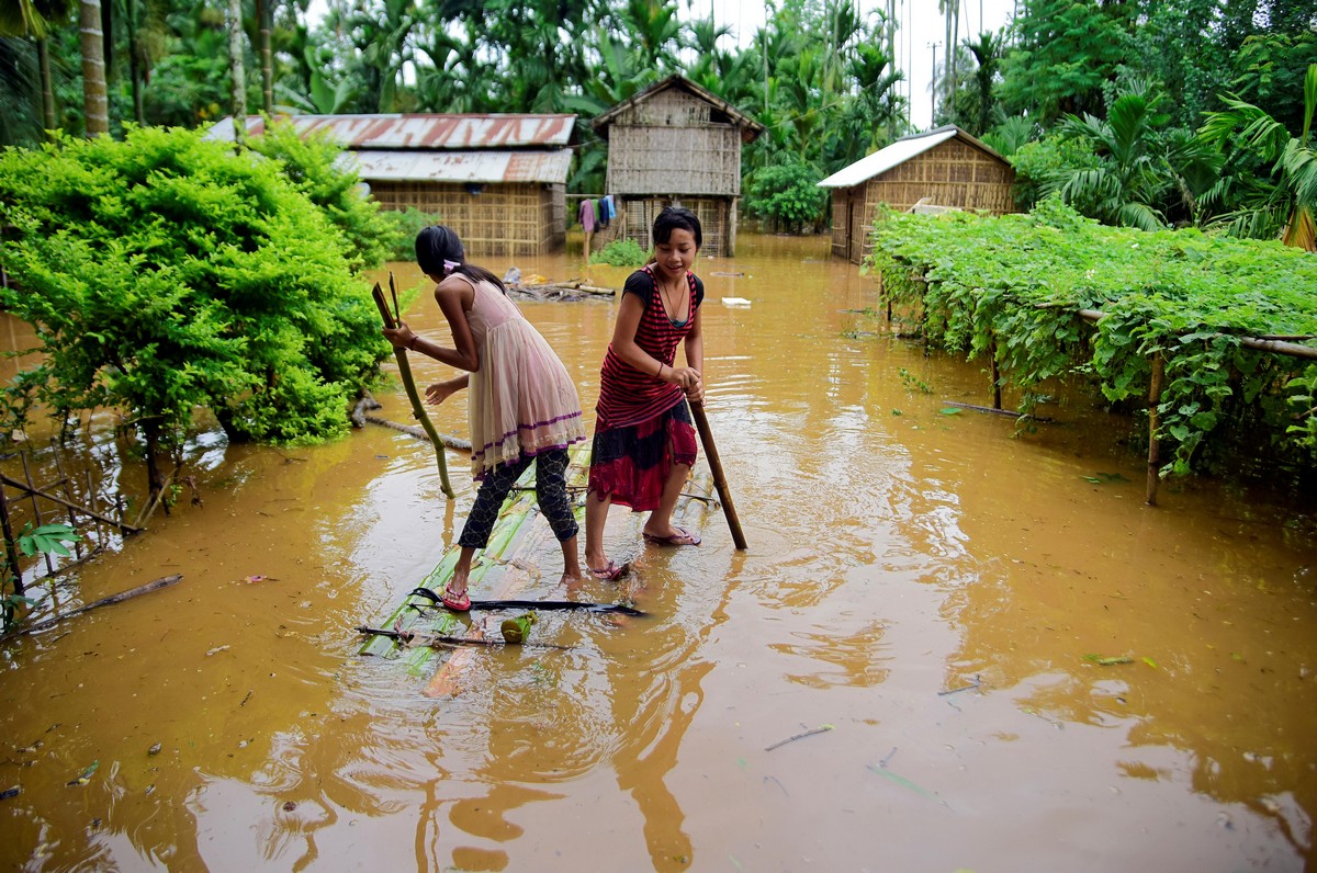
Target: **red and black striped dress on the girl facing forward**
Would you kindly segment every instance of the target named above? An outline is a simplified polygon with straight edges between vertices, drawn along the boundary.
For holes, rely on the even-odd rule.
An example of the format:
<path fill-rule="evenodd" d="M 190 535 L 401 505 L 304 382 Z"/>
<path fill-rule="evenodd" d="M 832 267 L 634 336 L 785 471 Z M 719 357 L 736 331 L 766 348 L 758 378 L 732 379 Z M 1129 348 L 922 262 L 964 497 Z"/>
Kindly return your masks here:
<path fill-rule="evenodd" d="M 622 292 L 635 294 L 644 303 L 636 345 L 655 358 L 655 367 L 632 367 L 611 345 L 603 358 L 590 491 L 598 496 L 611 495 L 614 503 L 630 506 L 636 512 L 657 508 L 673 465 L 695 463 L 695 427 L 686 392 L 680 384 L 657 378 L 657 362 L 673 365 L 677 346 L 690 333 L 695 309 L 705 299 L 705 284 L 694 273 L 686 273 L 686 284 L 689 315 L 684 323 L 673 324 L 651 269 L 632 273 Z"/>

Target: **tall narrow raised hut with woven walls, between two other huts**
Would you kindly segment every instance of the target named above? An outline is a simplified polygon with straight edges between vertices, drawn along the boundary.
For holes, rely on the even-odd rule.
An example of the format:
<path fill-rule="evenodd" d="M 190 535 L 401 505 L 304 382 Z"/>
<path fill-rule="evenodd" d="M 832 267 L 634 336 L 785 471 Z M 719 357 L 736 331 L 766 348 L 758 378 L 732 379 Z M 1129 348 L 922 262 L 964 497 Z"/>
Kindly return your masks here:
<path fill-rule="evenodd" d="M 736 250 L 741 146 L 764 125 L 681 75 L 672 75 L 594 120 L 608 141 L 607 194 L 624 236 L 651 246 L 649 228 L 666 205 L 699 217 L 702 251 Z"/>

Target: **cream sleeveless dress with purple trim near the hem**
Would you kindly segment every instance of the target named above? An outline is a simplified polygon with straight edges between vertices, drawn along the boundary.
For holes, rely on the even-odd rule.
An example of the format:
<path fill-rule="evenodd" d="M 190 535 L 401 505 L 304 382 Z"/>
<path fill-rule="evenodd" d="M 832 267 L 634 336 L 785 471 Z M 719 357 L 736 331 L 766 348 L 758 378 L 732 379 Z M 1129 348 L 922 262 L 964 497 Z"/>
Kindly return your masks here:
<path fill-rule="evenodd" d="M 470 374 L 468 408 L 471 474 L 482 479 L 500 463 L 565 449 L 586 435 L 581 400 L 558 356 L 497 286 L 471 287 L 466 320 L 481 369 Z"/>

